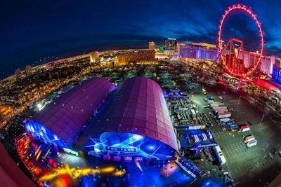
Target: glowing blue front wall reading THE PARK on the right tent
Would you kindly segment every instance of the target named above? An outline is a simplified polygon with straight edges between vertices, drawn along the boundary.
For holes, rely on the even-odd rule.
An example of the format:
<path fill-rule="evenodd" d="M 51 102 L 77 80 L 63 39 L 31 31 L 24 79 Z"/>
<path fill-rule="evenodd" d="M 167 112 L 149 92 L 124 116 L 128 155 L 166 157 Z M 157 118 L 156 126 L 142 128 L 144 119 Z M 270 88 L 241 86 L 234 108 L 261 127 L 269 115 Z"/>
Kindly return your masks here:
<path fill-rule="evenodd" d="M 80 140 L 81 148 L 90 154 L 118 155 L 124 157 L 142 157 L 166 159 L 174 155 L 174 148 L 162 141 L 143 137 L 139 134 L 123 132 L 102 132 L 93 137 Z"/>

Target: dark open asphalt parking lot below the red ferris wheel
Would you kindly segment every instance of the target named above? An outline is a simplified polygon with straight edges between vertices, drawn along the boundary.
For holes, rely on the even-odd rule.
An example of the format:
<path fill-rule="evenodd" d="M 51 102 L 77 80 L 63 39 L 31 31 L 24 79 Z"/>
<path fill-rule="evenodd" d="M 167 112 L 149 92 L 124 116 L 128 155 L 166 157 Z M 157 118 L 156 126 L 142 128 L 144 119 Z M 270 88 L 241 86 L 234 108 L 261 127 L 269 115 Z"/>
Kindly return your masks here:
<path fill-rule="evenodd" d="M 209 95 L 214 98 L 219 88 L 209 87 Z M 273 154 L 273 148 L 281 149 L 280 125 L 270 120 L 259 109 L 251 105 L 251 100 L 247 96 L 227 90 L 223 94 L 223 102 L 228 108 L 233 108 L 232 117 L 237 124 L 250 125 L 249 132 L 222 131 L 220 125 L 211 127 L 216 142 L 223 148 L 226 157 L 226 168 L 233 178 L 241 186 L 253 185 L 261 186 L 271 181 L 280 172 L 281 158 Z M 208 109 L 204 109 L 208 110 Z M 248 148 L 242 139 L 243 135 L 252 134 L 258 141 L 256 146 Z"/>

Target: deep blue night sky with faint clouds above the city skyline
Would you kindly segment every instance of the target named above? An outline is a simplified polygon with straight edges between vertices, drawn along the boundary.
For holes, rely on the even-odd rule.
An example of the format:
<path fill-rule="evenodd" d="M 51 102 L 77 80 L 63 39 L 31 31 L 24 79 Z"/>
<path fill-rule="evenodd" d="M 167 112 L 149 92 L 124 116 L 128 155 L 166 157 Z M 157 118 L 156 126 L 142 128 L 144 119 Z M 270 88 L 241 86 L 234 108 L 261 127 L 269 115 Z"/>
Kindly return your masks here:
<path fill-rule="evenodd" d="M 266 55 L 281 57 L 281 2 L 233 0 L 6 0 L 0 1 L 0 78 L 44 62 L 94 50 L 148 48 L 163 38 L 216 44 L 221 15 L 232 4 L 252 8 L 266 33 Z M 259 50 L 253 19 L 230 13 L 223 39 Z"/>

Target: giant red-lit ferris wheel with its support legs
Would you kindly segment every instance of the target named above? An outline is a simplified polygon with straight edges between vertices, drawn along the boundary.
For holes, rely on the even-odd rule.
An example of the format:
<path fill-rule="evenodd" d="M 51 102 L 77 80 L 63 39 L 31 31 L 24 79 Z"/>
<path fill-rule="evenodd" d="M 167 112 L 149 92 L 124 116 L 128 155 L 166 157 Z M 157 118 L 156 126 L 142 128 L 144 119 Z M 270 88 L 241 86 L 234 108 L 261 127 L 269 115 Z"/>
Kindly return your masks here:
<path fill-rule="evenodd" d="M 247 13 L 248 15 L 250 15 L 251 18 L 256 22 L 257 29 L 259 30 L 259 41 L 261 47 L 259 48 L 259 50 L 256 50 L 259 53 L 256 53 L 257 55 L 256 61 L 253 64 L 251 64 L 251 67 L 245 67 L 244 45 L 243 45 L 244 42 L 241 39 L 231 38 L 225 46 L 222 45 L 221 34 L 222 34 L 223 24 L 226 20 L 226 17 L 228 17 L 229 13 L 235 10 L 241 10 Z M 256 70 L 259 63 L 261 62 L 261 58 L 263 54 L 263 46 L 265 45 L 265 42 L 263 41 L 264 32 L 261 29 L 261 22 L 259 22 L 259 20 L 256 17 L 257 17 L 256 14 L 251 11 L 251 8 L 240 4 L 229 6 L 228 9 L 226 9 L 225 13 L 223 13 L 222 15 L 220 25 L 218 26 L 219 29 L 218 54 L 219 55 L 217 60 L 218 59 L 221 60 L 221 62 L 223 63 L 223 67 L 226 69 L 228 74 L 237 77 L 250 76 L 253 73 L 253 71 Z M 211 65 L 211 67 L 214 65 L 214 63 Z"/>

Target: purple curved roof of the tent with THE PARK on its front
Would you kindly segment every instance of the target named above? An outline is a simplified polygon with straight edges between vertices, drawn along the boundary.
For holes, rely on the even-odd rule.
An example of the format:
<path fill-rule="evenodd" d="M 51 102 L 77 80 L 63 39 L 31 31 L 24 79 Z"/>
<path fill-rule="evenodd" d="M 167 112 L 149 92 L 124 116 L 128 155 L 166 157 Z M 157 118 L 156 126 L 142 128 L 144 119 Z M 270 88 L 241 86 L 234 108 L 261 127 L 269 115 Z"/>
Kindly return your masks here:
<path fill-rule="evenodd" d="M 160 86 L 149 78 L 122 82 L 84 131 L 84 137 L 100 132 L 130 132 L 158 139 L 178 151 L 176 134 Z"/>

